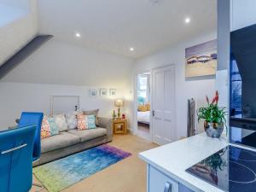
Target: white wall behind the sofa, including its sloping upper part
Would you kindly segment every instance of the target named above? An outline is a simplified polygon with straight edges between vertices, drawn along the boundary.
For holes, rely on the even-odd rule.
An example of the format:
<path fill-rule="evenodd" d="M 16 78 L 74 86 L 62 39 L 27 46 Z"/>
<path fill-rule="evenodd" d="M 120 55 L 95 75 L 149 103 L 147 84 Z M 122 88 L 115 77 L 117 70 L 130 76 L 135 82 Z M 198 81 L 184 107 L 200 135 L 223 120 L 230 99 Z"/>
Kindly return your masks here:
<path fill-rule="evenodd" d="M 21 111 L 49 113 L 52 95 L 80 96 L 82 108 L 100 108 L 100 115 L 111 118 L 114 98 L 90 98 L 90 88 L 116 89 L 115 98 L 125 99 L 124 111 L 131 119 L 133 64 L 124 56 L 53 39 L 0 80 L 0 129 L 13 125 Z"/>

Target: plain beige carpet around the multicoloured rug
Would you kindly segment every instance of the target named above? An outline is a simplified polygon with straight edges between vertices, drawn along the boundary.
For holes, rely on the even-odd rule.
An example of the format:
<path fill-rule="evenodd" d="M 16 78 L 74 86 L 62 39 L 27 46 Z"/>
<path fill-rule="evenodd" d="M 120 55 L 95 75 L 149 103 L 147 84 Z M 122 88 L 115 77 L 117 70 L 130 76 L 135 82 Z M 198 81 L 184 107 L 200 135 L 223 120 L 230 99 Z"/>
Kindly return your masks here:
<path fill-rule="evenodd" d="M 146 164 L 137 154 L 157 145 L 133 135 L 114 136 L 113 142 L 109 144 L 130 152 L 132 156 L 61 192 L 146 192 Z M 35 177 L 34 182 L 38 183 Z M 37 190 L 33 187 L 31 192 Z M 48 191 L 44 189 L 41 192 Z"/>

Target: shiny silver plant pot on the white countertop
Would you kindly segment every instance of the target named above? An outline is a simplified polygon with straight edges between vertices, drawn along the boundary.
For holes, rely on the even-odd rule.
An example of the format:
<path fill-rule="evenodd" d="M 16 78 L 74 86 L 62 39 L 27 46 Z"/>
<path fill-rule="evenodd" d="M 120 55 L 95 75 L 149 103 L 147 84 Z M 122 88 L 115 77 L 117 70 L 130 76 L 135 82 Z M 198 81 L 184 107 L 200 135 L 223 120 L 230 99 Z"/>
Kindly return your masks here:
<path fill-rule="evenodd" d="M 209 123 L 205 121 L 204 123 L 205 131 L 207 132 L 207 137 L 219 138 L 224 130 L 223 123 Z"/>

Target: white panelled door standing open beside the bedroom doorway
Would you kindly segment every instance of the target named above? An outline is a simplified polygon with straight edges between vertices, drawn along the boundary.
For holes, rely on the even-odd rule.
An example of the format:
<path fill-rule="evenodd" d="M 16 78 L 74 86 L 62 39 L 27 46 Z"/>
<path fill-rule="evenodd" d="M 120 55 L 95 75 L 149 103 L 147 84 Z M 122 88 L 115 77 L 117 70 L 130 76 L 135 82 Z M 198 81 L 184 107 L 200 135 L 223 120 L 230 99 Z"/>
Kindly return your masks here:
<path fill-rule="evenodd" d="M 163 145 L 176 139 L 174 127 L 175 67 L 153 70 L 153 142 Z"/>

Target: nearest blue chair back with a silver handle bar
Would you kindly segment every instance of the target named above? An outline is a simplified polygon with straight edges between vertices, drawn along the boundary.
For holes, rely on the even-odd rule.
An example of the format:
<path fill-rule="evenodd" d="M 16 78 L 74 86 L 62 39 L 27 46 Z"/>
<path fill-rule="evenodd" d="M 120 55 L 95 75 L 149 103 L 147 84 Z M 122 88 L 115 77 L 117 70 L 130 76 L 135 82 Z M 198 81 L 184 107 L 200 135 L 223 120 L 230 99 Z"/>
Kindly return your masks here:
<path fill-rule="evenodd" d="M 31 189 L 35 132 L 35 125 L 0 132 L 1 192 L 27 192 Z"/>

